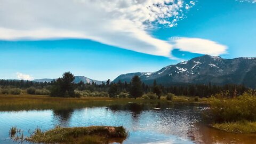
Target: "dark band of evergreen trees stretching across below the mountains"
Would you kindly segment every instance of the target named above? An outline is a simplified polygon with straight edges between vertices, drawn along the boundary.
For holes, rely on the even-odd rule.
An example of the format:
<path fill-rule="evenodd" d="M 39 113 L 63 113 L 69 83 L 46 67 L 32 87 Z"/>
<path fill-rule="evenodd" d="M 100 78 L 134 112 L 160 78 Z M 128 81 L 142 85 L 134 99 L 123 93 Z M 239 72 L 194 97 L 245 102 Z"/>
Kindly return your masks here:
<path fill-rule="evenodd" d="M 72 73 L 67 72 L 61 78 L 54 79 L 52 82 L 33 82 L 33 81 L 17 81 L 17 80 L 0 80 L 0 86 L 16 87 L 20 89 L 28 89 L 29 87 L 36 87 L 37 89 L 47 89 L 50 91 L 52 97 L 79 97 L 77 91 L 90 92 L 107 92 L 109 97 L 116 98 L 121 93 L 129 93 L 129 97 L 138 98 L 143 93 L 155 93 L 158 99 L 161 95 L 173 93 L 175 95 L 185 95 L 191 97 L 210 97 L 211 95 L 221 94 L 222 97 L 236 97 L 243 94 L 250 89 L 243 85 L 226 84 L 226 85 L 212 85 L 209 84 L 183 84 L 163 86 L 154 81 L 153 84 L 147 85 L 141 82 L 139 76 L 134 76 L 130 83 L 118 81 L 111 83 L 110 80 L 102 84 L 92 83 L 74 83 L 75 77 Z"/>

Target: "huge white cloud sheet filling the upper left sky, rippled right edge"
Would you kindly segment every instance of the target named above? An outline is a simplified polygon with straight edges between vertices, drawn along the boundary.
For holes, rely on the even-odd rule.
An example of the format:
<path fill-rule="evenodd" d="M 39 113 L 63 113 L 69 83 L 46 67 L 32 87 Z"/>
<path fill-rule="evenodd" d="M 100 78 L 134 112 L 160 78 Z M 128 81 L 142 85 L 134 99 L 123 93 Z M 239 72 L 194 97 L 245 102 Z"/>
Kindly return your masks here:
<path fill-rule="evenodd" d="M 171 57 L 173 45 L 148 30 L 177 26 L 183 0 L 0 0 L 0 39 L 88 38 Z M 187 6 L 188 5 L 188 6 Z"/>

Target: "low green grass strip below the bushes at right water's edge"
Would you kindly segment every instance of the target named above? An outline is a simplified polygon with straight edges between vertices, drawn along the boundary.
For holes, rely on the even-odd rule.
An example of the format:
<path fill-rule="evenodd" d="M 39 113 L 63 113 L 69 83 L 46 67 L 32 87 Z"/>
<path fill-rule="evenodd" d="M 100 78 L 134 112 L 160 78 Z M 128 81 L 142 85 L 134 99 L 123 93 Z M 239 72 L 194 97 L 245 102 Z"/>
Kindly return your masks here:
<path fill-rule="evenodd" d="M 256 133 L 256 122 L 238 121 L 213 124 L 212 127 L 233 133 Z"/>

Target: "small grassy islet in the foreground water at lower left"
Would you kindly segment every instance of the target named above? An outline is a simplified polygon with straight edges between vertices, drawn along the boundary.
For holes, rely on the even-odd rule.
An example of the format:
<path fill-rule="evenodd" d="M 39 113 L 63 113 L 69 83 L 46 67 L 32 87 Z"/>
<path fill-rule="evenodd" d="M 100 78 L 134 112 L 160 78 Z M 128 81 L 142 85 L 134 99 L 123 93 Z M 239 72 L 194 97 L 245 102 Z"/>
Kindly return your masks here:
<path fill-rule="evenodd" d="M 123 126 L 55 127 L 46 132 L 37 129 L 25 140 L 33 143 L 108 143 L 109 139 L 127 137 Z"/>

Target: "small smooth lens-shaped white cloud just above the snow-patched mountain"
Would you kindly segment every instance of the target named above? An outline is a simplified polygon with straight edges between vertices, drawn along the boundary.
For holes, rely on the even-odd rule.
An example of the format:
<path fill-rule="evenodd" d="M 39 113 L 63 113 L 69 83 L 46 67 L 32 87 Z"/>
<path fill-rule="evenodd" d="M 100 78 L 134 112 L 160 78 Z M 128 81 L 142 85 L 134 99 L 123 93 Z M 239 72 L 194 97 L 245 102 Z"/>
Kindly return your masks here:
<path fill-rule="evenodd" d="M 219 44 L 209 39 L 201 38 L 169 38 L 175 49 L 181 51 L 209 54 L 209 55 L 220 55 L 227 53 L 228 47 L 226 45 Z"/>

